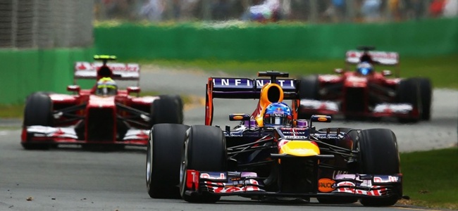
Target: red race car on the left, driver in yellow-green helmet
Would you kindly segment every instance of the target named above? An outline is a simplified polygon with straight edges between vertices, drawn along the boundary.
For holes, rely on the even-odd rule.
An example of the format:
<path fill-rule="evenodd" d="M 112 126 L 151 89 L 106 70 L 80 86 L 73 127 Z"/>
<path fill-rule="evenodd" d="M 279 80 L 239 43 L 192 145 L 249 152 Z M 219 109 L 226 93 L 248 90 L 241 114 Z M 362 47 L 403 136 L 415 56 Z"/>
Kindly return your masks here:
<path fill-rule="evenodd" d="M 58 144 L 123 148 L 146 146 L 149 129 L 158 123 L 182 123 L 180 96 L 140 94 L 140 65 L 107 63 L 116 56 L 94 56 L 102 62 L 75 63 L 74 94 L 35 92 L 27 96 L 21 144 L 25 149 Z M 97 79 L 92 89 L 80 89 L 76 79 Z M 137 81 L 118 89 L 116 80 Z"/>

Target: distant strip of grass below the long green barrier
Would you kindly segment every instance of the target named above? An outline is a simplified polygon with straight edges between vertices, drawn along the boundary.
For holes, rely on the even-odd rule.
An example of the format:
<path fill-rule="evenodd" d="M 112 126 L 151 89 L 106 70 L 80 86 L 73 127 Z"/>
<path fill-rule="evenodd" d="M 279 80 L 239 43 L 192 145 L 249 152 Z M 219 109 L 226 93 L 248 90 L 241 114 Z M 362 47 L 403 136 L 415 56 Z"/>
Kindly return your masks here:
<path fill-rule="evenodd" d="M 333 74 L 335 68 L 345 68 L 342 59 L 315 61 L 143 60 L 140 63 L 171 68 L 195 68 L 209 72 L 223 71 L 247 77 L 256 77 L 258 71 L 265 70 L 289 72 L 291 77 L 301 77 L 318 73 Z M 401 58 L 398 67 L 376 66 L 376 70 L 392 70 L 393 74 L 399 71 L 400 77 L 428 77 L 435 88 L 450 89 L 458 89 L 457 68 L 458 54 L 428 58 Z"/>

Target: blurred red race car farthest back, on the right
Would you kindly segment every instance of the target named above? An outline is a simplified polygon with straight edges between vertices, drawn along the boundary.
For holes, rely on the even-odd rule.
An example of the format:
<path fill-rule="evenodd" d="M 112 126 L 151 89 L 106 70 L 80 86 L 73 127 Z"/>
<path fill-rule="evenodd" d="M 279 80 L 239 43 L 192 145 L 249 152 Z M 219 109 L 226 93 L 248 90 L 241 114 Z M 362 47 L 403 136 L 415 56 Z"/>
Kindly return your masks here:
<path fill-rule="evenodd" d="M 390 70 L 376 72 L 373 65 L 397 65 L 395 52 L 359 47 L 347 51 L 347 64 L 357 71 L 335 69 L 338 75 L 311 75 L 302 79 L 300 117 L 315 113 L 344 115 L 347 119 L 397 117 L 400 122 L 431 118 L 431 81 L 423 77 L 388 78 Z"/>

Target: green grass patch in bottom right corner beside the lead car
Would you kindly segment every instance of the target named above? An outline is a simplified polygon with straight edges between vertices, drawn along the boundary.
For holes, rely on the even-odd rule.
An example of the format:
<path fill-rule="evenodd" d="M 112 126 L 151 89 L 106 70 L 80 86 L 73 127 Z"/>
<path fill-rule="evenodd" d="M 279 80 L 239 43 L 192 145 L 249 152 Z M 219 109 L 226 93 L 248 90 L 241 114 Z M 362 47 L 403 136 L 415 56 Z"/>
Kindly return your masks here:
<path fill-rule="evenodd" d="M 404 195 L 401 203 L 458 210 L 458 148 L 401 153 Z"/>

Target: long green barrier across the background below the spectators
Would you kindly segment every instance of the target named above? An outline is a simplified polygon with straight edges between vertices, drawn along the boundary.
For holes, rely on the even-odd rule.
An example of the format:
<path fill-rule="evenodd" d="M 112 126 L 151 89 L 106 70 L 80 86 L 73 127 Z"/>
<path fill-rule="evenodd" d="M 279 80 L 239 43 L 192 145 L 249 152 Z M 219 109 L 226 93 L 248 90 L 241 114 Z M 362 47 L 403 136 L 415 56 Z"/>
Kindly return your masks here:
<path fill-rule="evenodd" d="M 100 25 L 95 47 L 123 59 L 315 60 L 356 46 L 400 56 L 458 52 L 458 18 L 402 23 Z"/>

